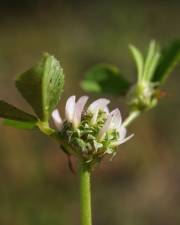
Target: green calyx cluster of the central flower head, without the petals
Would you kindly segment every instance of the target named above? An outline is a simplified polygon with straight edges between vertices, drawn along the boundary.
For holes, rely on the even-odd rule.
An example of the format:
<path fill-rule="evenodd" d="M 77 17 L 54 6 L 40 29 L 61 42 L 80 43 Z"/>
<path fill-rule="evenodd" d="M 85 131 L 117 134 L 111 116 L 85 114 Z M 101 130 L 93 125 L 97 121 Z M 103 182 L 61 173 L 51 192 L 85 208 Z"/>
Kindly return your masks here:
<path fill-rule="evenodd" d="M 106 121 L 106 113 L 99 112 L 96 124 L 92 124 L 92 117 L 90 113 L 84 114 L 80 126 L 76 129 L 65 121 L 61 131 L 61 136 L 70 146 L 68 153 L 77 156 L 89 166 L 100 162 L 107 154 L 114 156 L 117 147 L 113 143 L 119 139 L 119 133 L 115 129 L 109 130 L 100 139 L 98 134 Z"/>

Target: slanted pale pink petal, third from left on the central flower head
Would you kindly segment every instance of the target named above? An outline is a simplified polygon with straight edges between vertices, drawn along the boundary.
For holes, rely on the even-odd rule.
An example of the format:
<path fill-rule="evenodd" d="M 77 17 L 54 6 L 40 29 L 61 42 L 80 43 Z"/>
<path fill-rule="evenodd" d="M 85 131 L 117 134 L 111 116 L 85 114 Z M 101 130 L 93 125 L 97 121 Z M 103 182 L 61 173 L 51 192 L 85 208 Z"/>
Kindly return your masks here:
<path fill-rule="evenodd" d="M 73 117 L 73 125 L 74 127 L 78 127 L 81 122 L 81 115 L 84 110 L 84 106 L 88 100 L 88 96 L 82 96 L 78 99 L 75 105 L 74 117 Z"/>

